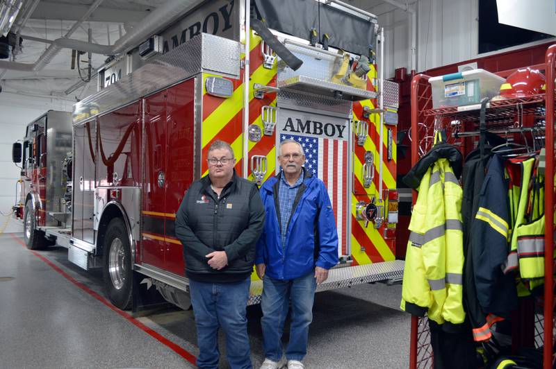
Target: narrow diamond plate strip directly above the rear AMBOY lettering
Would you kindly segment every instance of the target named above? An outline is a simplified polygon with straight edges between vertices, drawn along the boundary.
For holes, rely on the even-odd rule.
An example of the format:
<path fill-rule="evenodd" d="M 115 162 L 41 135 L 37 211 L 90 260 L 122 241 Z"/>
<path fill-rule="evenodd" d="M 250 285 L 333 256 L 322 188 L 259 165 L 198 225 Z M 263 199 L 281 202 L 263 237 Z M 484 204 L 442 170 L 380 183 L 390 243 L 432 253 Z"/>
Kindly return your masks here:
<path fill-rule="evenodd" d="M 347 117 L 352 110 L 351 101 L 325 98 L 322 95 L 309 94 L 288 89 L 278 92 L 277 106 L 314 112 L 332 112 Z"/>

